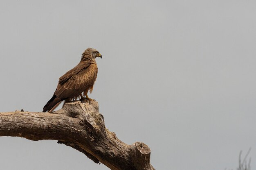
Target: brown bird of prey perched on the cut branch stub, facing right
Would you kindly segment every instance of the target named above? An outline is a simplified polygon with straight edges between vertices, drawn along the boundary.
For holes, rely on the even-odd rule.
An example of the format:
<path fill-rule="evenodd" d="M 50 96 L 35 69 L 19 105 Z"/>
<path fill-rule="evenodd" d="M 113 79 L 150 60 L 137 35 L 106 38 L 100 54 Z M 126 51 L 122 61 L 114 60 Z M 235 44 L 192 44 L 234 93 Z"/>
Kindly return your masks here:
<path fill-rule="evenodd" d="M 84 96 L 88 100 L 93 100 L 88 97 L 87 93 L 89 91 L 92 93 L 97 78 L 96 57 L 102 58 L 99 51 L 93 48 L 87 48 L 83 52 L 80 63 L 59 78 L 57 89 L 44 106 L 43 112 L 51 113 L 63 100 L 68 102 Z"/>

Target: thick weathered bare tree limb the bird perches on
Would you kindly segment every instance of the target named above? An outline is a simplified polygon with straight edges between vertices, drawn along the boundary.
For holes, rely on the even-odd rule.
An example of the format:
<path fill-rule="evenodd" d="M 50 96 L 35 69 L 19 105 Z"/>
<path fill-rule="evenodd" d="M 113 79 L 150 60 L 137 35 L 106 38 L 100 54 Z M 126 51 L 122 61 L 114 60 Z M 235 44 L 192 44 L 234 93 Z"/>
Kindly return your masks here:
<path fill-rule="evenodd" d="M 106 129 L 96 101 L 68 102 L 53 113 L 0 113 L 0 136 L 57 140 L 111 170 L 155 170 L 146 144 L 125 144 Z"/>

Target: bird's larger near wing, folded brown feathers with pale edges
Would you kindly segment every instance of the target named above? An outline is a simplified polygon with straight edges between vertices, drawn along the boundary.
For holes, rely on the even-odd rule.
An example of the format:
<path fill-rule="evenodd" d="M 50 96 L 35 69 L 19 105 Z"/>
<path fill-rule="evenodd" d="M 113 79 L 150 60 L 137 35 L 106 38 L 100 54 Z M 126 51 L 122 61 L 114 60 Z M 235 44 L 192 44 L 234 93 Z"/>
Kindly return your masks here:
<path fill-rule="evenodd" d="M 81 69 L 73 74 L 63 84 L 58 83 L 54 94 L 58 98 L 73 98 L 81 94 L 87 87 L 93 85 L 97 78 L 97 65 L 91 64 L 87 68 Z"/>

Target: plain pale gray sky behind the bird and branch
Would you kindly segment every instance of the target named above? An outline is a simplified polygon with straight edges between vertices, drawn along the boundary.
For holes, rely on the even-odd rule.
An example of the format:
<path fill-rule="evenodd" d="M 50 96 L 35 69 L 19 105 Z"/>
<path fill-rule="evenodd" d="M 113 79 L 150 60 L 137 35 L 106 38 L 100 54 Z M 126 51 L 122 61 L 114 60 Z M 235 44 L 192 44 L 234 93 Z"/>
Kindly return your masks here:
<path fill-rule="evenodd" d="M 224 170 L 252 147 L 255 0 L 1 0 L 0 111 L 42 111 L 96 48 L 91 98 L 106 127 L 158 170 Z M 0 137 L 1 169 L 107 170 L 56 141 Z"/>

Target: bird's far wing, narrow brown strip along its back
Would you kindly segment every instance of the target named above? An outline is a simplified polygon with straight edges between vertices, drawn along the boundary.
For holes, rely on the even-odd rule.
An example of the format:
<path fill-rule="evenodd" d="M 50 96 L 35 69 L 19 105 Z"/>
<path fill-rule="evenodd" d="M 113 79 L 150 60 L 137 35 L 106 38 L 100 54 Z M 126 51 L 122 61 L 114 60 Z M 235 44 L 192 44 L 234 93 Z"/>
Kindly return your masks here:
<path fill-rule="evenodd" d="M 81 61 L 76 67 L 72 68 L 68 72 L 66 72 L 63 76 L 59 78 L 58 83 L 64 84 L 66 81 L 68 81 L 72 76 L 78 74 L 81 70 L 87 68 L 90 65 L 90 61 Z"/>

